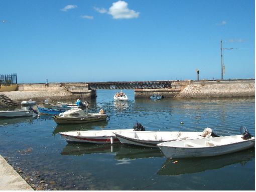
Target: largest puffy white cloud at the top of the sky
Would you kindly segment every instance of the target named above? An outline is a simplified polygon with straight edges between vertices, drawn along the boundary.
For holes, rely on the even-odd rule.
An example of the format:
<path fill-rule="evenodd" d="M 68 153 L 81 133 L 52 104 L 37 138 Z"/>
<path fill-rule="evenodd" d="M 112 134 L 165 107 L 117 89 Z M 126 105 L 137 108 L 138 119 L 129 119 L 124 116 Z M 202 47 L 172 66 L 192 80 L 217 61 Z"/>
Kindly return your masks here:
<path fill-rule="evenodd" d="M 128 3 L 122 0 L 113 2 L 109 7 L 108 14 L 111 14 L 114 19 L 120 18 L 137 18 L 140 12 L 136 12 L 128 8 Z"/>

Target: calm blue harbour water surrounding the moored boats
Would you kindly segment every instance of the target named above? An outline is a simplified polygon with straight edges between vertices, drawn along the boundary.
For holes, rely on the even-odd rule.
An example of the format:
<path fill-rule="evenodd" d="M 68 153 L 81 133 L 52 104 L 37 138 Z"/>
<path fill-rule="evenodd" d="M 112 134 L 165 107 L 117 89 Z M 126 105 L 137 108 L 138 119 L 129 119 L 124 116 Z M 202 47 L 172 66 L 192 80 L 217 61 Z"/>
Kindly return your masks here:
<path fill-rule="evenodd" d="M 239 134 L 244 124 L 255 135 L 255 99 L 134 98 L 113 100 L 118 90 L 97 90 L 88 112 L 103 108 L 107 121 L 57 125 L 51 115 L 0 119 L 0 154 L 24 173 L 44 178 L 58 190 L 254 190 L 254 148 L 208 158 L 168 159 L 158 148 L 122 144 L 67 143 L 58 134 L 68 130 L 132 128 Z M 180 122 L 184 122 L 181 124 Z M 178 160 L 177 163 L 173 163 Z M 36 179 L 36 178 L 35 178 Z M 36 181 L 35 181 L 36 182 Z"/>

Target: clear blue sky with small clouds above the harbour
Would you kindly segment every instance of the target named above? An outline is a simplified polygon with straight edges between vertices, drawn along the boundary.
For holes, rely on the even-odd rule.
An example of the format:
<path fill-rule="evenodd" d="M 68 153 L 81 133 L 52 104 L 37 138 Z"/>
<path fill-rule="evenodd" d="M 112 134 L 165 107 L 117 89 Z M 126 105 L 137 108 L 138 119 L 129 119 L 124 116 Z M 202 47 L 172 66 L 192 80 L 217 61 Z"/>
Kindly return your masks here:
<path fill-rule="evenodd" d="M 0 0 L 1 74 L 20 83 L 255 76 L 254 0 Z"/>

